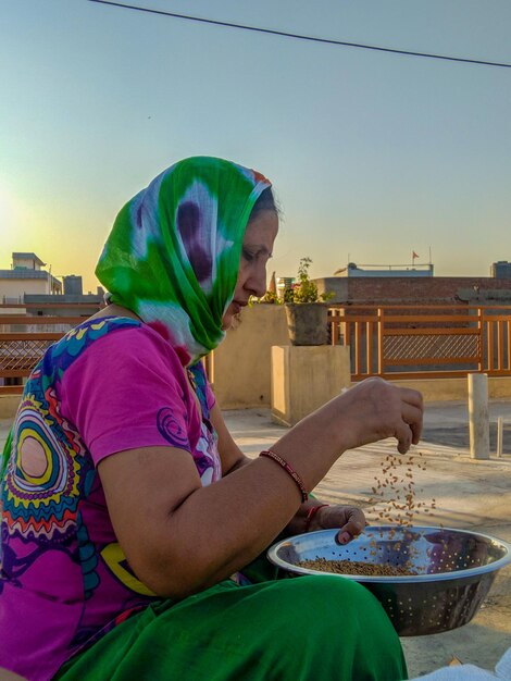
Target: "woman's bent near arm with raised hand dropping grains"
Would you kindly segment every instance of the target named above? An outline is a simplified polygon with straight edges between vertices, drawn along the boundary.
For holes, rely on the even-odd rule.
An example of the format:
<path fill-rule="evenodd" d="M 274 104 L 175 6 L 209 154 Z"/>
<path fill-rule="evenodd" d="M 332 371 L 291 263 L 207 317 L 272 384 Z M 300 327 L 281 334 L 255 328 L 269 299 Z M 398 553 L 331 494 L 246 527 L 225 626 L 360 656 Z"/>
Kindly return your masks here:
<path fill-rule="evenodd" d="M 346 449 L 395 436 L 403 454 L 421 424 L 419 393 L 369 380 L 300 421 L 273 449 L 313 490 Z M 301 504 L 290 475 L 262 457 L 205 487 L 191 456 L 173 447 L 128 449 L 98 470 L 130 567 L 164 596 L 184 597 L 250 562 Z"/>

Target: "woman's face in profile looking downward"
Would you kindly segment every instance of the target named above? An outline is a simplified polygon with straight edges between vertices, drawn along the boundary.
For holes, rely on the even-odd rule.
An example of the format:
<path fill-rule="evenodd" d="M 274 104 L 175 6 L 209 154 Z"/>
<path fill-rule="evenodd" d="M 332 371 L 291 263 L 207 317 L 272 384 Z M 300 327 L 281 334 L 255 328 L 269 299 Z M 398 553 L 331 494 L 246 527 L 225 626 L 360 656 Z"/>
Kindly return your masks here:
<path fill-rule="evenodd" d="M 263 210 L 249 221 L 241 247 L 234 298 L 222 318 L 222 329 L 230 327 L 233 317 L 248 305 L 250 296 L 260 298 L 266 293 L 266 263 L 272 257 L 277 232 L 278 216 L 273 210 Z"/>

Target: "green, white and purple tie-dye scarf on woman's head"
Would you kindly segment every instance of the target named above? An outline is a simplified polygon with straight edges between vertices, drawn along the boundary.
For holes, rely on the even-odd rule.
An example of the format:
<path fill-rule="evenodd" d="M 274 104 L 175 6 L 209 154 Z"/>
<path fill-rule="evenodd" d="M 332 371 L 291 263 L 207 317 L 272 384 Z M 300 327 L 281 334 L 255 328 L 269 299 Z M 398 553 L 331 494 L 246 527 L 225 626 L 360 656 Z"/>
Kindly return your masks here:
<path fill-rule="evenodd" d="M 185 366 L 223 339 L 250 212 L 270 182 L 194 157 L 155 177 L 119 213 L 96 268 L 110 301 L 158 329 Z"/>

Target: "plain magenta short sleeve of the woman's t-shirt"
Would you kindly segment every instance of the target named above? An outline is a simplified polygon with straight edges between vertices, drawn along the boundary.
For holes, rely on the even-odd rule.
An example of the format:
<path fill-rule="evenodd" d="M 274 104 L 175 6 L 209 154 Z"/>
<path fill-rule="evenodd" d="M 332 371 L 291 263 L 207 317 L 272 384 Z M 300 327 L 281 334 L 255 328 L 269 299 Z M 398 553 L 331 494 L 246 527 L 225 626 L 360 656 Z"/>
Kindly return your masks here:
<path fill-rule="evenodd" d="M 192 451 L 200 430 L 177 355 L 144 326 L 95 340 L 64 372 L 60 399 L 95 463 L 138 447 Z"/>

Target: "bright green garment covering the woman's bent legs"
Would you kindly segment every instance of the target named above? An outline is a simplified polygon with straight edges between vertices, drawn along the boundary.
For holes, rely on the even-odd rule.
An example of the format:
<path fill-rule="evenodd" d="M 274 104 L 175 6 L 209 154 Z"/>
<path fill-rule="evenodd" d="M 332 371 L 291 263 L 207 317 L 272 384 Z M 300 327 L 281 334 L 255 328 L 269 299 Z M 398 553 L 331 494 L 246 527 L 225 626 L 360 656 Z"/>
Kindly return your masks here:
<path fill-rule="evenodd" d="M 267 564 L 266 564 L 267 566 Z M 364 587 L 334 575 L 226 580 L 134 615 L 67 661 L 59 681 L 401 681 L 404 657 Z M 270 579 L 267 579 L 270 577 Z"/>

